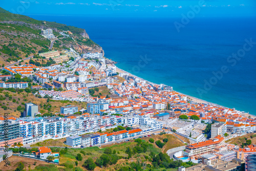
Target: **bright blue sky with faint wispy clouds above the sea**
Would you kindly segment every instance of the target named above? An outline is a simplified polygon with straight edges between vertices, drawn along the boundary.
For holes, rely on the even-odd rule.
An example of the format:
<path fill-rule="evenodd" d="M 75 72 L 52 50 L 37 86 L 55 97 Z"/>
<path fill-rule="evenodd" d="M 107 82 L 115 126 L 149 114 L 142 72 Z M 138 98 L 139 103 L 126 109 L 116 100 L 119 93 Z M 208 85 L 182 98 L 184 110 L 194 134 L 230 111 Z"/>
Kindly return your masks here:
<path fill-rule="evenodd" d="M 0 0 L 0 7 L 24 15 L 256 16 L 256 0 Z"/>

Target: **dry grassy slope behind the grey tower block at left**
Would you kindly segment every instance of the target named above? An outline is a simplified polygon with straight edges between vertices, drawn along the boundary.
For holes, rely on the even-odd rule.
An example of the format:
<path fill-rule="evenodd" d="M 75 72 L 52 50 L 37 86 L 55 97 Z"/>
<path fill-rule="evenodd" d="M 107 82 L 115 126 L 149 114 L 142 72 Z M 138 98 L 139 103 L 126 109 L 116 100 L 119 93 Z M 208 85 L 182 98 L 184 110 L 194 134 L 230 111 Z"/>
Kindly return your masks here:
<path fill-rule="evenodd" d="M 11 99 L 6 97 L 6 93 L 9 93 L 9 96 L 11 95 Z M 0 103 L 2 106 L 7 106 L 7 110 L 4 110 L 3 108 L 0 108 L 0 113 L 10 113 L 10 116 L 14 117 L 20 117 L 20 111 L 17 110 L 18 106 L 20 105 L 21 108 L 25 109 L 24 103 L 33 102 L 38 105 L 38 112 L 44 114 L 44 113 L 56 113 L 60 112 L 60 107 L 65 106 L 68 104 L 76 105 L 78 106 L 78 110 L 83 109 L 86 106 L 86 102 L 76 102 L 76 101 L 61 101 L 61 100 L 52 100 L 50 102 L 47 102 L 47 99 L 45 98 L 37 98 L 32 93 L 26 93 L 26 92 L 20 92 L 13 93 L 7 90 L 0 91 L 0 96 L 5 97 L 5 100 L 2 100 Z M 15 102 L 14 102 L 15 99 Z M 23 104 L 22 104 L 23 103 Z M 44 106 L 44 104 L 48 106 Z M 51 108 L 49 106 L 51 105 Z"/>

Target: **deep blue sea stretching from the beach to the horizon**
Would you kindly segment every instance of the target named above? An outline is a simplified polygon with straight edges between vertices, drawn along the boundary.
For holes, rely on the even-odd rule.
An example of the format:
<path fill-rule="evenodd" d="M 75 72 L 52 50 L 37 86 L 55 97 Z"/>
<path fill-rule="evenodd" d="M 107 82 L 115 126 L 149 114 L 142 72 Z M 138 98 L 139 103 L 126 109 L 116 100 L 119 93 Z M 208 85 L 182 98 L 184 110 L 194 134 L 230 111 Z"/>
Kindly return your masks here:
<path fill-rule="evenodd" d="M 178 32 L 177 17 L 29 16 L 86 29 L 134 75 L 256 115 L 255 17 L 195 17 Z"/>

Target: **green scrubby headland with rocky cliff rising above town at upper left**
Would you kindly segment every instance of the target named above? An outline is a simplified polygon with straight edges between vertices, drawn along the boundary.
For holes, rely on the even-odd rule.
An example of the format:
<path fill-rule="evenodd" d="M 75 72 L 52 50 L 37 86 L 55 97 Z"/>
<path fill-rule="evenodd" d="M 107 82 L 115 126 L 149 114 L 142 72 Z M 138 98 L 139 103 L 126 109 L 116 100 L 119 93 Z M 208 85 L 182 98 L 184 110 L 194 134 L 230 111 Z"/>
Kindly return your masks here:
<path fill-rule="evenodd" d="M 104 53 L 84 29 L 13 14 L 0 7 L 0 65 L 8 66 L 35 53 L 48 51 L 51 41 L 40 35 L 41 29 L 53 30 L 56 37 L 53 50 L 73 48 L 79 53 Z M 73 34 L 64 37 L 59 34 L 63 31 Z"/>

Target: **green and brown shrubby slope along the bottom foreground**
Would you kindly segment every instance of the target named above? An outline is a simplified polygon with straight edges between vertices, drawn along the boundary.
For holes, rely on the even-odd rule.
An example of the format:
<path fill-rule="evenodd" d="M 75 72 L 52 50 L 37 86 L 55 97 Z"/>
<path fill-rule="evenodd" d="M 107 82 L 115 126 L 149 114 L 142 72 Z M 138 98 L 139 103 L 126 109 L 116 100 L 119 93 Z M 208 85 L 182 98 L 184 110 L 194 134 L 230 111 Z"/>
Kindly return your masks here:
<path fill-rule="evenodd" d="M 154 140 L 162 140 L 167 138 L 169 144 L 174 144 L 172 147 L 177 147 L 183 145 L 176 137 L 173 135 L 153 135 Z M 150 137 L 143 137 L 142 139 L 132 139 L 130 142 L 114 143 L 110 145 L 101 145 L 100 147 L 93 146 L 87 148 L 58 148 L 51 147 L 52 152 L 60 153 L 60 165 L 56 166 L 54 169 L 50 163 L 36 163 L 32 166 L 33 161 L 26 161 L 25 158 L 21 157 L 11 157 L 10 170 L 17 167 L 18 162 L 23 162 L 25 167 L 28 168 L 31 164 L 33 170 L 87 170 L 84 166 L 84 162 L 87 159 L 92 158 L 93 162 L 96 163 L 93 170 L 177 170 L 178 166 L 189 167 L 193 163 L 187 162 L 182 163 L 181 161 L 170 160 L 167 154 L 164 154 L 165 149 L 161 149 L 155 145 L 155 143 L 150 143 L 148 140 Z M 167 145 L 167 143 L 165 144 Z M 169 146 L 171 147 L 171 146 Z M 130 148 L 130 151 L 129 151 Z M 33 151 L 34 149 L 31 149 Z M 108 152 L 108 153 L 106 153 Z M 162 153 L 163 154 L 162 154 Z M 81 155 L 78 160 L 77 155 Z M 14 160 L 15 159 L 15 160 Z M 35 161 L 35 160 L 34 160 Z M 165 163 L 165 164 L 164 164 Z M 0 163 L 0 166 L 3 162 Z M 99 166 L 101 165 L 101 166 Z M 79 167 L 79 169 L 77 168 Z M 126 169 L 129 168 L 130 169 Z"/>

